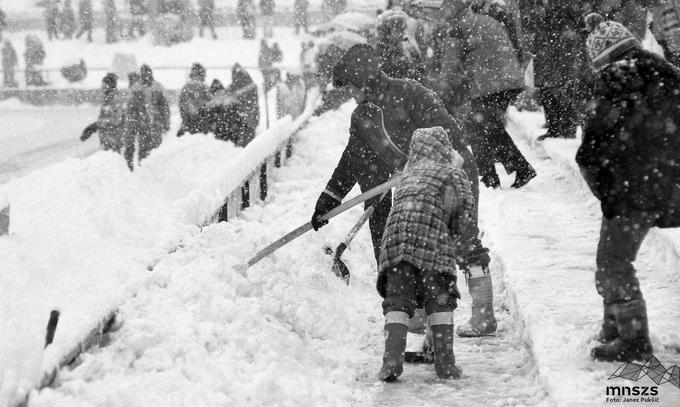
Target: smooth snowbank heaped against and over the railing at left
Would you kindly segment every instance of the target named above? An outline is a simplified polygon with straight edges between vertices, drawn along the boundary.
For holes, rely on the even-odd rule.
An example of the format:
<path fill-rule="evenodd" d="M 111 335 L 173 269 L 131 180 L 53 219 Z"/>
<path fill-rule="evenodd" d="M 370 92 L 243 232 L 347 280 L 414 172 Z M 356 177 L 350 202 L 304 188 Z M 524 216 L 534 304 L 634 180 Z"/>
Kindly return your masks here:
<path fill-rule="evenodd" d="M 168 137 L 132 173 L 102 151 L 3 185 L 12 233 L 0 239 L 0 406 L 25 402 L 97 344 L 113 310 L 147 284 L 147 270 L 217 221 L 225 204 L 236 206 L 231 219 L 261 199 L 260 185 L 312 115 L 310 100 L 302 116 L 276 122 L 246 148 L 203 134 Z"/>

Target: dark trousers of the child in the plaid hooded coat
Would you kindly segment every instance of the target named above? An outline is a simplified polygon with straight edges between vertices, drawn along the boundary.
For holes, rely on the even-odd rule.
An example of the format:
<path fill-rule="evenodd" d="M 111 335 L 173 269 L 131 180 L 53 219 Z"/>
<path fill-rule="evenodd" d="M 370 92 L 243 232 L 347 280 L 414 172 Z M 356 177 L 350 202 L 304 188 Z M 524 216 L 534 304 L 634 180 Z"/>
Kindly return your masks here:
<path fill-rule="evenodd" d="M 453 273 L 422 271 L 407 262 L 401 262 L 394 270 L 384 272 L 383 315 L 401 311 L 413 318 L 416 308 L 425 308 L 428 315 L 456 309 L 456 299 L 460 295 Z"/>

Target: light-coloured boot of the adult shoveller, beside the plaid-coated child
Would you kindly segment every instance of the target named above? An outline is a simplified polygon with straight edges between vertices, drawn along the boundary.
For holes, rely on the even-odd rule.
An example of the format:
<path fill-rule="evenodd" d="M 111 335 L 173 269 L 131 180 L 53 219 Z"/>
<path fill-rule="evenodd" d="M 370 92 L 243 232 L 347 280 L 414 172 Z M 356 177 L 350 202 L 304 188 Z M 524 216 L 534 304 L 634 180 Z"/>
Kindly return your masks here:
<path fill-rule="evenodd" d="M 472 266 L 466 272 L 472 297 L 472 315 L 467 324 L 458 327 L 456 333 L 462 338 L 484 336 L 496 332 L 493 314 L 493 287 L 488 267 Z"/>

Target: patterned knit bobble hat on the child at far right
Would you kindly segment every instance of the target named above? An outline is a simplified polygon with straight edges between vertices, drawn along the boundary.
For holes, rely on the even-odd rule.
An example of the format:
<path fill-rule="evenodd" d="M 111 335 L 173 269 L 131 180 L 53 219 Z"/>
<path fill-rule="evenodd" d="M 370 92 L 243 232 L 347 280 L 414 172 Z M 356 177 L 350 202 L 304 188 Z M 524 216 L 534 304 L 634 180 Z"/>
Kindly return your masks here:
<path fill-rule="evenodd" d="M 586 48 L 595 69 L 616 61 L 630 49 L 642 47 L 640 41 L 621 23 L 604 21 L 600 14 L 588 14 L 586 28 L 590 31 Z"/>

